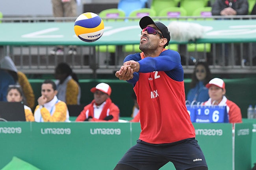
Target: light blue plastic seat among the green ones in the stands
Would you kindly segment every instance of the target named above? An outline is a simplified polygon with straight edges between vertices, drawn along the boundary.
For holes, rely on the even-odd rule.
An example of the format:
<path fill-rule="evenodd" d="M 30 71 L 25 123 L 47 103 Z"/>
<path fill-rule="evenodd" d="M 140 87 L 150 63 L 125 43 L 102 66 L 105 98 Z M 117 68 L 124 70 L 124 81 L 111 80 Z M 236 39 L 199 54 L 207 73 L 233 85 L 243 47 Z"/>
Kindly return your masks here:
<path fill-rule="evenodd" d="M 135 9 L 141 9 L 146 7 L 145 0 L 120 0 L 117 4 L 117 8 L 125 12 L 128 17 Z"/>

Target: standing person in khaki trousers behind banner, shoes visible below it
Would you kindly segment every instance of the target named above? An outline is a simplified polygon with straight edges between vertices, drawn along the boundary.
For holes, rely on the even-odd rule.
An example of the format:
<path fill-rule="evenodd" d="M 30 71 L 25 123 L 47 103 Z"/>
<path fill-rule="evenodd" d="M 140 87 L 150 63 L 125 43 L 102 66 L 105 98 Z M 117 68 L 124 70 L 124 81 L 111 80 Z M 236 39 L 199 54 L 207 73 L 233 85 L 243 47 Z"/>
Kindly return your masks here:
<path fill-rule="evenodd" d="M 52 12 L 54 17 L 75 17 L 77 16 L 76 0 L 52 0 Z M 61 20 L 57 20 L 61 22 Z M 69 21 L 69 20 L 67 20 Z M 73 21 L 73 20 L 70 20 Z M 76 55 L 76 47 L 69 46 L 69 55 Z M 63 46 L 56 46 L 50 51 L 51 55 L 64 55 Z"/>

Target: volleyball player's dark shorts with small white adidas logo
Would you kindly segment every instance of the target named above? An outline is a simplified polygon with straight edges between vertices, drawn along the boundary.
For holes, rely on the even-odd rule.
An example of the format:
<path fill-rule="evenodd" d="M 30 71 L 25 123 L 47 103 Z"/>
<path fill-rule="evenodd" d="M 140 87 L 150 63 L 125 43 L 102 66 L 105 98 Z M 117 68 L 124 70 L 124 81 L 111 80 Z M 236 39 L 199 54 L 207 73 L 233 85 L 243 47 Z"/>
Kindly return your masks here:
<path fill-rule="evenodd" d="M 137 140 L 118 164 L 130 165 L 138 170 L 158 170 L 172 162 L 176 170 L 207 166 L 204 154 L 195 138 L 167 144 L 150 144 Z"/>

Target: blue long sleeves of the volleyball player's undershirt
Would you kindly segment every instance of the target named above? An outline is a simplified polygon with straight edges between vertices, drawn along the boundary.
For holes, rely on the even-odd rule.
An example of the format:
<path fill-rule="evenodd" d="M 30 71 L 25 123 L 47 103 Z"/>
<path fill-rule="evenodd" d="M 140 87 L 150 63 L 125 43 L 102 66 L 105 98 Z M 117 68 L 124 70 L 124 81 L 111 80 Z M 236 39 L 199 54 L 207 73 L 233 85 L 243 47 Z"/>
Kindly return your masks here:
<path fill-rule="evenodd" d="M 134 60 L 139 62 L 140 68 L 134 73 L 134 77 L 128 80 L 129 83 L 135 85 L 139 80 L 139 73 L 150 73 L 153 71 L 165 71 L 165 73 L 173 80 L 183 81 L 184 71 L 180 62 L 180 54 L 177 51 L 165 50 L 158 57 L 145 57 L 141 60 L 140 53 L 128 55 L 124 62 Z"/>

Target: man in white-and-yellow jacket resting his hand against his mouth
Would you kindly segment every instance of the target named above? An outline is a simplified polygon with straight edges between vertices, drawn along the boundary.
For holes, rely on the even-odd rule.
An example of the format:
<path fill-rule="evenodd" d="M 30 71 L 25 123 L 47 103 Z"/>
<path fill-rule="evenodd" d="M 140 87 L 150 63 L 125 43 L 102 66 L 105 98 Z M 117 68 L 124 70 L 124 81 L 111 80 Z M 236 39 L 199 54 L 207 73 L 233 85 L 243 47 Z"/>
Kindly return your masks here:
<path fill-rule="evenodd" d="M 69 122 L 67 104 L 60 101 L 56 94 L 56 84 L 45 80 L 41 86 L 42 96 L 37 99 L 34 117 L 36 122 Z"/>

